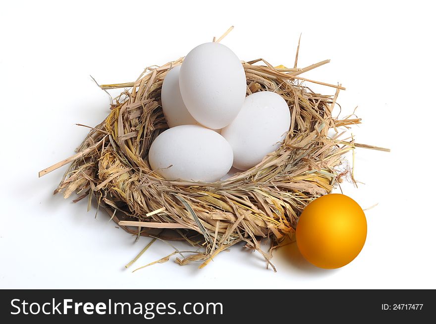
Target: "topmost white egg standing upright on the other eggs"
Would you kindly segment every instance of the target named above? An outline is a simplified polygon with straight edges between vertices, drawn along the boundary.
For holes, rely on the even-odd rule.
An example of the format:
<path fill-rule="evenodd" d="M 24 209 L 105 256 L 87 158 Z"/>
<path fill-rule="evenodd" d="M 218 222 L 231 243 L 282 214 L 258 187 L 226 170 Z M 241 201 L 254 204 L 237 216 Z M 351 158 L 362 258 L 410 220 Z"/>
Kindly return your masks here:
<path fill-rule="evenodd" d="M 179 81 L 188 111 L 200 124 L 213 129 L 227 126 L 236 117 L 247 88 L 239 58 L 219 43 L 202 44 L 189 52 Z"/>

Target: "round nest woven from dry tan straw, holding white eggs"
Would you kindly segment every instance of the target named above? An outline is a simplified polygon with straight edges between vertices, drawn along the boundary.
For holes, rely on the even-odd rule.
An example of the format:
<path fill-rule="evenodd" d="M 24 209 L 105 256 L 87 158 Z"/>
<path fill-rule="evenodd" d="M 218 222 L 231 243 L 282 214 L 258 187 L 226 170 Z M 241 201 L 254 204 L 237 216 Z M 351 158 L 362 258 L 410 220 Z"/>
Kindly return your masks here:
<path fill-rule="evenodd" d="M 291 112 L 283 145 L 247 171 L 224 181 L 198 183 L 168 181 L 150 169 L 150 145 L 167 129 L 161 107 L 163 79 L 171 67 L 183 62 L 179 58 L 147 67 L 135 82 L 102 85 L 104 90 L 128 89 L 114 99 L 108 117 L 91 128 L 76 155 L 41 171 L 40 176 L 70 163 L 54 193 L 63 192 L 68 198 L 75 192 L 79 197 L 74 201 L 88 199 L 88 210 L 95 197 L 98 206 L 131 234 L 185 240 L 200 247 L 196 252 L 179 253 L 182 258 L 176 262 L 180 265 L 200 261 L 202 268 L 219 252 L 243 241 L 263 255 L 267 267 L 272 266 L 272 250 L 294 232 L 305 206 L 341 181 L 349 171 L 341 166 L 343 155 L 359 146 L 351 137 L 341 140 L 346 130 L 339 128 L 360 123 L 360 119 L 332 116 L 344 88 L 299 76 L 329 61 L 297 68 L 297 58 L 298 49 L 293 68 L 273 67 L 262 58 L 242 62 L 247 95 L 276 92 Z M 321 95 L 307 83 L 336 92 Z M 270 251 L 261 249 L 262 239 L 270 239 Z"/>

